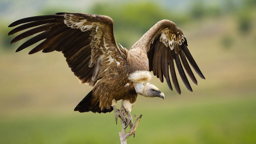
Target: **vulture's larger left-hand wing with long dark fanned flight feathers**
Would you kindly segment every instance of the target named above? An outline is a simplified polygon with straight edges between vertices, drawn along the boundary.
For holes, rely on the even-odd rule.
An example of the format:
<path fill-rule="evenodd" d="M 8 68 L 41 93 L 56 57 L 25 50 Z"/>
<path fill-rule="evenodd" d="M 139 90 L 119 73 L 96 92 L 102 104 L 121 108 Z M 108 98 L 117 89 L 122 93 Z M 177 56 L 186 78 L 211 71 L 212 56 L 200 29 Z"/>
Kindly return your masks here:
<path fill-rule="evenodd" d="M 25 23 L 25 24 L 24 24 Z M 17 51 L 43 40 L 29 54 L 43 50 L 44 53 L 62 51 L 68 66 L 80 83 L 93 87 L 104 76 L 110 63 L 126 59 L 126 49 L 119 48 L 113 33 L 113 20 L 108 16 L 84 13 L 56 13 L 23 18 L 9 27 L 17 26 L 8 35 L 26 30 L 16 36 L 15 43 L 35 35 L 24 42 Z"/>

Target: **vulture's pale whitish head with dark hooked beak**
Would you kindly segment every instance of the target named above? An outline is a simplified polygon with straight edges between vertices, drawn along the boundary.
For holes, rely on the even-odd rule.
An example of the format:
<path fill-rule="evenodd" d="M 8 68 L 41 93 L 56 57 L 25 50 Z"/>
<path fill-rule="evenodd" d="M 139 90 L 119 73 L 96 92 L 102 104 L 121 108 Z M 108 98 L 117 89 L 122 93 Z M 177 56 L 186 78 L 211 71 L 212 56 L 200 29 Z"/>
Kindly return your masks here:
<path fill-rule="evenodd" d="M 139 95 L 145 97 L 160 97 L 164 99 L 164 94 L 153 84 L 146 84 L 143 86 L 142 83 L 135 83 L 135 90 Z"/>

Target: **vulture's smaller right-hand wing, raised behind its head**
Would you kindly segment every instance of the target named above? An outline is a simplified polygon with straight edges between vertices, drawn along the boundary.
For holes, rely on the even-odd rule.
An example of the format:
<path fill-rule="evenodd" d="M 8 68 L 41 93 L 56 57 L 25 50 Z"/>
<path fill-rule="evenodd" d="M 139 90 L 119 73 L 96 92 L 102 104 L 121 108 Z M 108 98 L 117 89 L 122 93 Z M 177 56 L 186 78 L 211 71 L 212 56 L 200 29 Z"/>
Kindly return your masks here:
<path fill-rule="evenodd" d="M 194 68 L 196 73 L 202 79 L 205 79 L 187 46 L 187 40 L 182 31 L 173 22 L 162 20 L 143 35 L 132 48 L 140 47 L 146 49 L 149 58 L 149 71 L 153 71 L 154 75 L 157 76 L 161 82 L 163 82 L 163 77 L 165 77 L 168 87 L 172 90 L 169 76 L 170 68 L 172 82 L 177 93 L 180 94 L 181 91 L 174 63 L 176 64 L 179 75 L 188 90 L 192 91 L 192 88 L 188 82 L 183 67 L 193 83 L 197 85 L 197 80 L 188 62 Z M 183 67 L 181 63 L 183 64 Z"/>

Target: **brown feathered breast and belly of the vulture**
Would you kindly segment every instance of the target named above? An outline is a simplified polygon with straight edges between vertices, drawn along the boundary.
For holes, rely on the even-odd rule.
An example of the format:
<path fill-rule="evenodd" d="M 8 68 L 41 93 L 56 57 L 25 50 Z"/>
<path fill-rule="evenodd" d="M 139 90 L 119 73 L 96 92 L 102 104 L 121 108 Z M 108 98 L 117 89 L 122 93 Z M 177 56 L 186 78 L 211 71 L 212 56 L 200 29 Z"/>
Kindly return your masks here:
<path fill-rule="evenodd" d="M 109 69 L 113 71 L 107 71 L 108 74 L 105 74 L 93 88 L 93 96 L 100 101 L 99 105 L 102 109 L 110 109 L 113 99 L 116 101 L 121 99 L 130 100 L 134 103 L 138 96 L 133 89 L 132 82 L 128 80 L 128 74 L 125 67 L 122 65 L 123 62 L 118 66 L 111 63 Z"/>

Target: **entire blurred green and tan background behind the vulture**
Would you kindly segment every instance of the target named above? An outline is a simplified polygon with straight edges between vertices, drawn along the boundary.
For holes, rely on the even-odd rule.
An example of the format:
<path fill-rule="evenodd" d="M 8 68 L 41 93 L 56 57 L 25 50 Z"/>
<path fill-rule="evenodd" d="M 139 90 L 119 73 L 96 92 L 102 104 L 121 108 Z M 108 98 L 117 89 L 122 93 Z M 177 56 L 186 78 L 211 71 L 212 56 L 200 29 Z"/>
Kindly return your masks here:
<path fill-rule="evenodd" d="M 60 52 L 15 53 L 7 26 L 21 18 L 84 12 L 114 20 L 117 43 L 130 48 L 157 21 L 183 31 L 206 77 L 181 95 L 154 78 L 165 93 L 138 96 L 132 114 L 143 114 L 127 143 L 256 143 L 256 2 L 225 1 L 0 1 L 0 143 L 120 143 L 113 112 L 74 112 L 90 91 Z M 15 35 L 16 36 L 16 35 Z"/>

